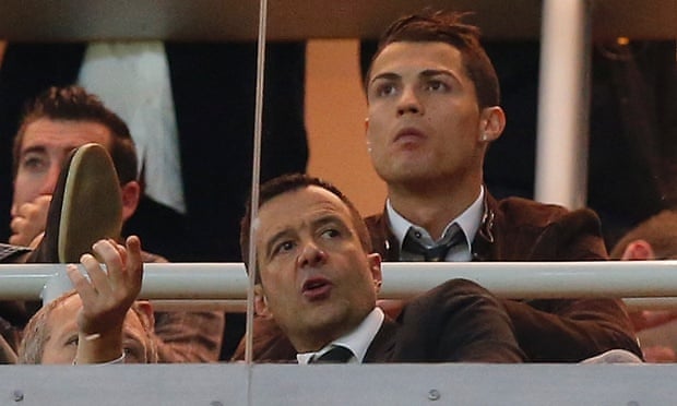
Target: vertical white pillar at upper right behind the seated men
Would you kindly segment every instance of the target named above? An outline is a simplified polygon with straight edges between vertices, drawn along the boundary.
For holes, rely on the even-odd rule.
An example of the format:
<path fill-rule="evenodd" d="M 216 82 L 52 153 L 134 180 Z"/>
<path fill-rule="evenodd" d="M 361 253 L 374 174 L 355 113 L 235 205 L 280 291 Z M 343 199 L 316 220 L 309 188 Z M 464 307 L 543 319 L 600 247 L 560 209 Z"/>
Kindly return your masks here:
<path fill-rule="evenodd" d="M 586 204 L 590 12 L 586 0 L 545 0 L 536 140 L 535 199 Z"/>

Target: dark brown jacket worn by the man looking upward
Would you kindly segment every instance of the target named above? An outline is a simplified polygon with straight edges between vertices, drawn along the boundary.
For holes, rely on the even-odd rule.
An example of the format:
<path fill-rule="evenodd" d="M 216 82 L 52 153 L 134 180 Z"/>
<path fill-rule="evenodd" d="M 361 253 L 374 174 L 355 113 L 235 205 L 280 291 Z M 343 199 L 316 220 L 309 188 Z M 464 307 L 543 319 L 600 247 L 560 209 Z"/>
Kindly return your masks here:
<path fill-rule="evenodd" d="M 384 214 L 367 218 L 375 251 L 399 260 Z M 486 194 L 472 247 L 474 261 L 596 261 L 607 259 L 599 220 L 590 210 Z M 613 348 L 641 355 L 620 300 L 503 300 L 528 361 L 577 362 Z"/>

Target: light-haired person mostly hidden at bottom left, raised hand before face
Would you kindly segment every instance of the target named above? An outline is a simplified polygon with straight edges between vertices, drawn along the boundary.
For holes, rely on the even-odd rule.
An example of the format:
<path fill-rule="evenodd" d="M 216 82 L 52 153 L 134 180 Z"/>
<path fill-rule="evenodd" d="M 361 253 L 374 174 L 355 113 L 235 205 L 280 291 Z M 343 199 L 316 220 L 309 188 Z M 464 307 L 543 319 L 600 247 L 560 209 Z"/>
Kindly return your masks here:
<path fill-rule="evenodd" d="M 154 363 L 153 310 L 135 301 L 141 290 L 141 242 L 129 237 L 122 247 L 100 240 L 93 253 L 103 259 L 107 273 L 92 254 L 68 275 L 75 290 L 43 307 L 25 327 L 19 363 Z"/>

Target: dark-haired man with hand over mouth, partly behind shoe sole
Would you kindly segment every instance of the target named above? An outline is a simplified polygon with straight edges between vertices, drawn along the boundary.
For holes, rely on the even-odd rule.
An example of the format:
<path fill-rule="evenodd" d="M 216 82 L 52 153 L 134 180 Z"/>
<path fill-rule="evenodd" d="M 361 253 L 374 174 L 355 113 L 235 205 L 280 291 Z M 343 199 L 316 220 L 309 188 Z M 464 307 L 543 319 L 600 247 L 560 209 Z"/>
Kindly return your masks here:
<path fill-rule="evenodd" d="M 46 210 L 69 153 L 92 142 L 104 145 L 112 158 L 122 220 L 134 214 L 142 188 L 136 180 L 136 154 L 127 124 L 80 86 L 51 87 L 28 105 L 15 138 L 12 242 L 31 243 L 45 230 Z M 141 255 L 144 262 L 166 262 L 145 251 Z M 27 311 L 23 323 L 31 315 Z M 223 313 L 157 312 L 155 322 L 162 362 L 218 360 Z"/>

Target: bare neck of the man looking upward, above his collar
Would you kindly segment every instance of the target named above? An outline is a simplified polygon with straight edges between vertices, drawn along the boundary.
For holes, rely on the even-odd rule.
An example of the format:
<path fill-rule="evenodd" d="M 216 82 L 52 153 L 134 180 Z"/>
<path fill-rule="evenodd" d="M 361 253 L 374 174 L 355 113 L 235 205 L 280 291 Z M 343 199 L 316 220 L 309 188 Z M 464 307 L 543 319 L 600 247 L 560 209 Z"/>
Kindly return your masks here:
<path fill-rule="evenodd" d="M 435 184 L 428 188 L 389 187 L 393 208 L 411 223 L 425 228 L 432 239 L 477 199 L 482 183 L 465 186 Z"/>

